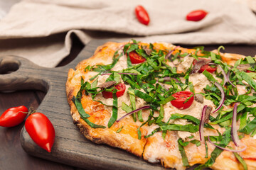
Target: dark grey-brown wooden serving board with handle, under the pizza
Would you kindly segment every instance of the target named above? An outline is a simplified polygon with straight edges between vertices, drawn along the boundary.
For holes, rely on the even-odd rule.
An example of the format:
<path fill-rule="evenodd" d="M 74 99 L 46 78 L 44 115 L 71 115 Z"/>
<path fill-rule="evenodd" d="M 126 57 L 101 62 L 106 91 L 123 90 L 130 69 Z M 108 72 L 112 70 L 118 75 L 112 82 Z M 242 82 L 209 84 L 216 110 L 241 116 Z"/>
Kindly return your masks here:
<path fill-rule="evenodd" d="M 75 69 L 78 62 L 91 57 L 96 48 L 105 42 L 92 40 L 65 67 L 45 68 L 22 57 L 0 57 L 0 72 L 9 68 L 16 69 L 11 74 L 0 74 L 0 91 L 37 89 L 47 93 L 37 111 L 45 114 L 55 128 L 52 152 L 48 153 L 38 147 L 25 128 L 21 131 L 21 145 L 28 154 L 35 157 L 82 169 L 164 169 L 160 164 L 150 164 L 122 149 L 97 145 L 87 140 L 73 124 L 65 93 L 68 69 Z"/>

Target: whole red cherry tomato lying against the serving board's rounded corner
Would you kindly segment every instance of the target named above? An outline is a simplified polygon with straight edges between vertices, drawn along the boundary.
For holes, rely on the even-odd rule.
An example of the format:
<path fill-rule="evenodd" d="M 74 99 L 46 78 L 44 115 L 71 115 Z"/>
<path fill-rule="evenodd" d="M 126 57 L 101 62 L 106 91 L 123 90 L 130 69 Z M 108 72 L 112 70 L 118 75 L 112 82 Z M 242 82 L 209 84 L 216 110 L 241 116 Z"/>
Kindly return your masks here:
<path fill-rule="evenodd" d="M 33 113 L 28 116 L 25 128 L 32 140 L 46 151 L 53 147 L 55 130 L 50 120 L 42 113 Z"/>

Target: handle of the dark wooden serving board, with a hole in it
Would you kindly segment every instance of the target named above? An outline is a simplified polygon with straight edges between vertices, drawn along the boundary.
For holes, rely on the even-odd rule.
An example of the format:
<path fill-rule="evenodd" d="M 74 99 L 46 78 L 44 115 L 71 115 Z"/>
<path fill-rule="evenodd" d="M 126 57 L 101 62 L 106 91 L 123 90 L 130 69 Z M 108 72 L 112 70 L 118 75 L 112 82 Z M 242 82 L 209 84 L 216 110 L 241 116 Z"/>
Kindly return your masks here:
<path fill-rule="evenodd" d="M 40 75 L 45 70 L 48 68 L 39 67 L 23 57 L 0 57 L 0 91 L 48 91 L 48 82 Z"/>

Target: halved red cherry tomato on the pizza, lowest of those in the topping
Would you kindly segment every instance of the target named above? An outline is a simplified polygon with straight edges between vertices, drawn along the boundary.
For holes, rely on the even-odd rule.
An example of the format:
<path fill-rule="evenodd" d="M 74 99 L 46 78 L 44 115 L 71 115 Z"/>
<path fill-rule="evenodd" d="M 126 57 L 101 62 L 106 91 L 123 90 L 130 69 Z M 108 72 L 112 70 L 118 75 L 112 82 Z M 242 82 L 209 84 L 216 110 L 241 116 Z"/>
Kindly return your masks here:
<path fill-rule="evenodd" d="M 171 104 L 178 108 L 178 109 L 186 109 L 186 108 L 189 108 L 192 103 L 193 103 L 193 100 L 194 100 L 194 96 L 191 96 L 193 95 L 193 93 L 191 91 L 179 91 L 171 96 L 174 96 L 174 98 L 176 98 L 175 100 L 172 100 L 171 101 Z M 191 98 L 189 98 L 191 96 Z M 188 99 L 188 101 L 186 101 Z"/>

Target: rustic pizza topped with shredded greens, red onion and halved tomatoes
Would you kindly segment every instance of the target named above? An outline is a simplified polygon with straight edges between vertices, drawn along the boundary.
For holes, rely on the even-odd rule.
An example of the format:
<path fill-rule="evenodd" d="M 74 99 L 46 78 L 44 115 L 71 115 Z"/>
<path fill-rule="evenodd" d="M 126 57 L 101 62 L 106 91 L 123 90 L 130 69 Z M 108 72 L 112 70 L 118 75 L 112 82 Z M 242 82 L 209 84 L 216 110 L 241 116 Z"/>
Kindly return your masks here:
<path fill-rule="evenodd" d="M 255 57 L 166 42 L 107 42 L 68 72 L 88 140 L 166 168 L 256 169 Z"/>

